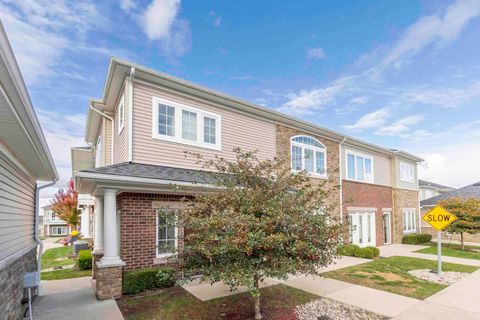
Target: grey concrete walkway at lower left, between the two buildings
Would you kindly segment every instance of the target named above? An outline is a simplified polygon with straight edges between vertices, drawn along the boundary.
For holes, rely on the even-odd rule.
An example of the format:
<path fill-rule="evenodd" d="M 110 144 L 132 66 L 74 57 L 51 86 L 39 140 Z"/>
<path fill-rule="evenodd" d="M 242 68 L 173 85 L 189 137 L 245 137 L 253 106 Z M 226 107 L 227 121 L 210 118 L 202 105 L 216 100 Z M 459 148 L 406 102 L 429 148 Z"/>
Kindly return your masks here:
<path fill-rule="evenodd" d="M 42 281 L 43 295 L 33 303 L 35 320 L 123 320 L 115 300 L 97 301 L 91 278 Z"/>

